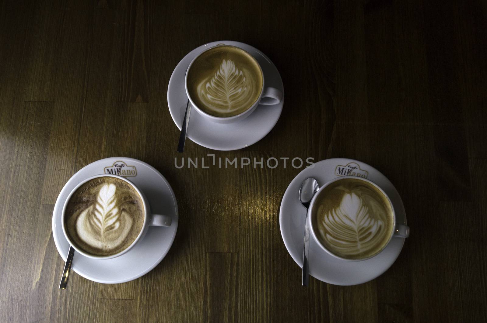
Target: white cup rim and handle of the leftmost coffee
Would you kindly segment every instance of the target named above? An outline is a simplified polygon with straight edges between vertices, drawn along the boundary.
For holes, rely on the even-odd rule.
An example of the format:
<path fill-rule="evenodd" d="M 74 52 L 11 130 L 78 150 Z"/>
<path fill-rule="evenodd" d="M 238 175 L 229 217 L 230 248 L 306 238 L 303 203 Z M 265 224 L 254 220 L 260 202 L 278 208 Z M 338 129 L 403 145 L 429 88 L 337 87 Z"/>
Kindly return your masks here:
<path fill-rule="evenodd" d="M 95 178 L 98 178 L 98 177 L 114 177 L 114 178 L 117 178 L 117 179 L 121 179 L 121 180 L 126 181 L 139 194 L 139 196 L 142 199 L 143 206 L 144 206 L 144 223 L 142 224 L 142 229 L 140 230 L 139 234 L 137 235 L 137 238 L 135 238 L 135 240 L 133 240 L 133 242 L 131 243 L 131 245 L 129 247 L 127 247 L 126 249 L 124 249 L 124 250 L 122 250 L 120 252 L 117 252 L 115 254 L 108 255 L 108 256 L 98 256 L 98 255 L 90 254 L 90 253 L 87 253 L 85 251 L 80 250 L 76 246 L 76 244 L 73 241 L 71 241 L 71 239 L 70 239 L 70 237 L 69 237 L 69 235 L 68 235 L 68 233 L 66 231 L 66 227 L 65 227 L 65 223 L 64 223 L 66 207 L 68 205 L 68 202 L 69 202 L 70 198 L 75 193 L 75 191 L 81 185 L 83 185 L 84 183 L 86 183 L 87 181 L 92 180 L 92 179 L 95 179 Z M 149 201 L 147 200 L 147 197 L 145 197 L 144 193 L 142 193 L 142 191 L 134 183 L 132 183 L 130 180 L 128 180 L 128 179 L 126 179 L 126 178 L 124 178 L 122 176 L 111 175 L 111 174 L 99 174 L 99 175 L 95 175 L 95 176 L 92 176 L 90 178 L 87 178 L 87 179 L 83 180 L 78 185 L 76 185 L 75 188 L 68 195 L 68 198 L 66 199 L 66 201 L 64 202 L 64 206 L 62 208 L 62 214 L 61 214 L 62 231 L 64 233 L 64 237 L 66 238 L 66 240 L 68 240 L 69 244 L 71 246 L 73 246 L 73 248 L 75 249 L 75 251 L 79 252 L 80 254 L 84 255 L 85 257 L 94 258 L 94 259 L 111 259 L 111 258 L 115 258 L 115 257 L 121 256 L 125 252 L 129 251 L 133 246 L 135 246 L 135 244 L 138 241 L 142 240 L 142 238 L 146 235 L 147 230 L 149 229 L 149 226 L 150 225 L 153 225 L 153 226 L 162 226 L 162 227 L 170 227 L 171 226 L 171 221 L 172 221 L 172 218 L 169 215 L 160 215 L 160 214 L 151 214 L 150 213 L 150 205 L 149 205 Z"/>

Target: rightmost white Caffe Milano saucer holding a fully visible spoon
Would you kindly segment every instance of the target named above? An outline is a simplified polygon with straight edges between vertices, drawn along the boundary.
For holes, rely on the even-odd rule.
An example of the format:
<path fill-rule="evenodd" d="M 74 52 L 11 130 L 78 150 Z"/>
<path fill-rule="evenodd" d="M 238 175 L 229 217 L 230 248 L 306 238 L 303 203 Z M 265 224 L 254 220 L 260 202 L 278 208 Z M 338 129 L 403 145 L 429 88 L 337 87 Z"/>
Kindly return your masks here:
<path fill-rule="evenodd" d="M 393 184 L 374 167 L 352 159 L 334 158 L 320 161 L 296 176 L 281 201 L 279 224 L 282 240 L 294 261 L 302 268 L 304 218 L 306 210 L 300 203 L 299 190 L 302 182 L 313 177 L 321 186 L 339 176 L 356 175 L 372 180 L 391 198 L 396 211 L 397 223 L 406 224 L 406 212 L 399 193 Z M 386 271 L 396 260 L 404 245 L 404 238 L 393 237 L 389 245 L 375 257 L 364 261 L 337 259 L 325 251 L 310 237 L 310 274 L 334 285 L 357 285 L 373 280 Z"/>

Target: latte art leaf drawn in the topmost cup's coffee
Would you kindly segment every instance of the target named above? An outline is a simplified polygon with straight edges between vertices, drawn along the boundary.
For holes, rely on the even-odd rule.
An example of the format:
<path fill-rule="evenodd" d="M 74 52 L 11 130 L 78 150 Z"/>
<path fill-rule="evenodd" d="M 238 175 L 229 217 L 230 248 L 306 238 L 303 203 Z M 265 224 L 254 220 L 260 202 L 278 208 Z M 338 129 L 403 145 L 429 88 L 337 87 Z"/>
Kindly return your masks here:
<path fill-rule="evenodd" d="M 243 71 L 235 63 L 224 59 L 220 69 L 200 90 L 201 97 L 208 104 L 232 110 L 242 107 L 248 100 L 248 84 Z"/>

